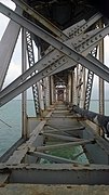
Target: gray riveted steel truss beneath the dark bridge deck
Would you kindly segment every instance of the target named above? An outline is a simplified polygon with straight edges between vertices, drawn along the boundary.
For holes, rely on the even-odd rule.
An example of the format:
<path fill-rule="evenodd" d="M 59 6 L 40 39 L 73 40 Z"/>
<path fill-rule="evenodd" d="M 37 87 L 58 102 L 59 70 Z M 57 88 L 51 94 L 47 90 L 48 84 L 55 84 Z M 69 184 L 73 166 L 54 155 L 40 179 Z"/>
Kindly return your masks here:
<path fill-rule="evenodd" d="M 103 15 L 96 13 L 60 30 L 24 1 L 13 2 L 15 11 L 0 3 L 0 12 L 11 20 L 0 42 L 0 106 L 32 87 L 37 118 L 28 118 L 23 107 L 23 136 L 1 157 L 1 183 L 109 184 L 109 142 L 96 132 L 98 125 L 108 134 L 109 118 L 101 123 L 95 117 L 94 125 L 86 115 L 68 110 L 72 104 L 88 109 L 94 74 L 109 82 L 109 68 L 91 54 L 109 34 L 109 25 L 99 27 Z M 19 30 L 23 66 L 27 51 L 29 68 L 3 88 Z M 40 42 L 36 63 L 32 39 Z M 81 152 L 72 159 L 51 152 L 73 146 Z M 81 155 L 85 162 L 77 161 Z"/>

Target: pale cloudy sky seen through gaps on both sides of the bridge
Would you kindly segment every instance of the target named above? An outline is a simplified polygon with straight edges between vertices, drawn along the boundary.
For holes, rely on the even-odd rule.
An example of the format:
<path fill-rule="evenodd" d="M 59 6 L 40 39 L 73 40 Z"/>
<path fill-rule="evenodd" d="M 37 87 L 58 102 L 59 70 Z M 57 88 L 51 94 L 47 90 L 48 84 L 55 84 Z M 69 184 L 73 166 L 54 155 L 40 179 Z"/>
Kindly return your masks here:
<path fill-rule="evenodd" d="M 12 10 L 15 9 L 15 4 L 11 0 L 0 0 L 0 2 L 6 4 Z M 9 23 L 9 18 L 0 13 L 0 40 Z M 36 49 L 37 52 L 37 49 Z M 36 58 L 37 61 L 37 58 Z M 105 38 L 105 64 L 109 67 L 109 36 Z M 5 78 L 4 87 L 18 77 L 22 73 L 22 36 L 19 34 L 17 44 L 15 47 L 13 57 L 10 63 L 10 68 Z M 105 99 L 109 100 L 109 83 L 105 82 Z M 30 90 L 28 99 L 31 99 Z M 92 99 L 98 99 L 98 77 L 94 77 Z"/>

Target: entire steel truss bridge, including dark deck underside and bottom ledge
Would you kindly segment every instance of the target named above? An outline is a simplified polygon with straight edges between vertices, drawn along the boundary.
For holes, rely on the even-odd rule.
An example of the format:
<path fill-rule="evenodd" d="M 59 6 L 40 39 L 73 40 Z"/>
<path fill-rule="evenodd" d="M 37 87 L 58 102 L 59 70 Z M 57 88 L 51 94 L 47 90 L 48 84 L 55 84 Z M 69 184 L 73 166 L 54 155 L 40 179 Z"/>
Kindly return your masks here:
<path fill-rule="evenodd" d="M 0 193 L 109 193 L 108 20 L 85 0 L 13 2 L 15 11 L 0 3 L 0 13 L 10 18 L 0 41 L 0 106 L 22 93 L 23 125 L 21 139 L 0 157 Z M 19 31 L 22 75 L 3 88 Z M 94 74 L 99 77 L 99 114 L 88 110 Z M 27 117 L 30 87 L 36 117 Z M 80 151 L 69 157 L 76 147 Z"/>

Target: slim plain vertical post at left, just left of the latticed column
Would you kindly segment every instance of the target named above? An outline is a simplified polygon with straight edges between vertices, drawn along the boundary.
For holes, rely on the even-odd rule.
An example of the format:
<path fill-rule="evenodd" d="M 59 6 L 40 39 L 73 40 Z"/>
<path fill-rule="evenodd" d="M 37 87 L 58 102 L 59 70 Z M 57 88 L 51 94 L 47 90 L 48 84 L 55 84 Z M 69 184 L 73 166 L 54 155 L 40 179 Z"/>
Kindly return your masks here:
<path fill-rule="evenodd" d="M 22 73 L 27 69 L 26 61 L 26 30 L 22 28 Z M 27 138 L 27 92 L 22 93 L 22 136 Z"/>

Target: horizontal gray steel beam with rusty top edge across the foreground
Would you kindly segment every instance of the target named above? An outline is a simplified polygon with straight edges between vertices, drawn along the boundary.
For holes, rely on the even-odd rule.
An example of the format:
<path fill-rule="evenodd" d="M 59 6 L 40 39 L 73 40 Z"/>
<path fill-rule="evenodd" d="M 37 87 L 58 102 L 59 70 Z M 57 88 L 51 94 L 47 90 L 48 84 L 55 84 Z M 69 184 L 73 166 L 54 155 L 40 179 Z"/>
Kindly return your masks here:
<path fill-rule="evenodd" d="M 11 183 L 37 184 L 109 184 L 109 166 L 52 165 L 0 165 L 0 171 L 11 170 Z"/>

